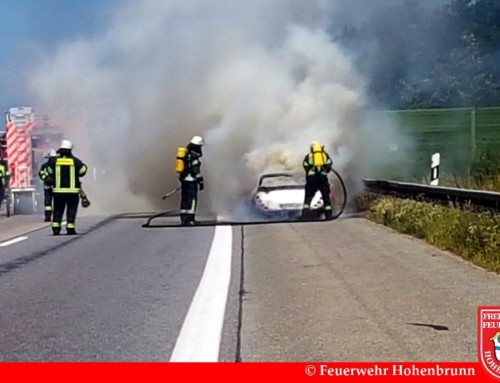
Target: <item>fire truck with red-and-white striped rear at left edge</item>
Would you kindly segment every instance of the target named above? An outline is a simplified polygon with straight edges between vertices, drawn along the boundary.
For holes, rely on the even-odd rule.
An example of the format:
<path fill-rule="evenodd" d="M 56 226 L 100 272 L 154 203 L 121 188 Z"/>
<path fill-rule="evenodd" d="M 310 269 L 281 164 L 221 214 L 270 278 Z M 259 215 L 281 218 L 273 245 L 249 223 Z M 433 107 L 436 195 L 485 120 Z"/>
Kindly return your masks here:
<path fill-rule="evenodd" d="M 43 209 L 43 185 L 38 177 L 45 154 L 58 147 L 63 133 L 48 115 L 32 107 L 13 107 L 5 113 L 2 158 L 7 161 L 13 214 Z"/>

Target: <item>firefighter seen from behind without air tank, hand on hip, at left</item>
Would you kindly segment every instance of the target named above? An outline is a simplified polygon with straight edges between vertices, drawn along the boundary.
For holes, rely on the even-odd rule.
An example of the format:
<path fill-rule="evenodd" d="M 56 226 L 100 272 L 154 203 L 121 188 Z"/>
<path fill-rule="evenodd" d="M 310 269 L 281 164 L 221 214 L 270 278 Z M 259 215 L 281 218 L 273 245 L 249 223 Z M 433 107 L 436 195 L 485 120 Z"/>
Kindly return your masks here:
<path fill-rule="evenodd" d="M 49 159 L 47 167 L 49 176 L 54 179 L 52 232 L 54 235 L 61 233 L 61 221 L 66 210 L 66 233 L 75 235 L 76 213 L 81 193 L 80 177 L 87 173 L 87 165 L 73 155 L 73 144 L 69 140 L 61 141 L 57 154 L 58 157 Z"/>

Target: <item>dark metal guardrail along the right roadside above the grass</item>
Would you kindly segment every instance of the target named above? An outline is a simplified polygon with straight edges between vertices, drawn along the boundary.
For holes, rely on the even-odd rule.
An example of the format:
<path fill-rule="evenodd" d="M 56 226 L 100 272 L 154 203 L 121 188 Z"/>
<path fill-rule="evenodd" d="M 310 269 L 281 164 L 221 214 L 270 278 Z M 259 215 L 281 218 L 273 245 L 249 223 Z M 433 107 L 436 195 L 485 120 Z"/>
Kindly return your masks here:
<path fill-rule="evenodd" d="M 419 197 L 500 210 L 500 193 L 385 180 L 365 179 L 363 182 L 366 190 L 373 193 L 389 194 L 403 198 Z"/>

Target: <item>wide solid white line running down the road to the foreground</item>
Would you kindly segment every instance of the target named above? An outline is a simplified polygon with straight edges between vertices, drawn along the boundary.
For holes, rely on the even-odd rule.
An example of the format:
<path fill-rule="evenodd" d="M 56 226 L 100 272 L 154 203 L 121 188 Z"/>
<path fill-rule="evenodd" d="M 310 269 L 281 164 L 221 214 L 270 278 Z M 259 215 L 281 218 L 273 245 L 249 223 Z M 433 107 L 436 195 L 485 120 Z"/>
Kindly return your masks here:
<path fill-rule="evenodd" d="M 216 226 L 205 271 L 184 319 L 171 362 L 218 362 L 231 280 L 231 226 Z"/>

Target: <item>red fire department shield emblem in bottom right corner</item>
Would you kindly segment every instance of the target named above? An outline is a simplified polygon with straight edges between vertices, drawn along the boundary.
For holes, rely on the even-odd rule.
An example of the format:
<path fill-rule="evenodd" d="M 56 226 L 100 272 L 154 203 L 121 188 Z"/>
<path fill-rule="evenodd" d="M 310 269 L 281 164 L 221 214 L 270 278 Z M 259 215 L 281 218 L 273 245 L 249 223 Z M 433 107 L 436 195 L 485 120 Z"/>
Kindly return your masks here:
<path fill-rule="evenodd" d="M 479 362 L 500 379 L 500 306 L 478 307 L 477 314 Z"/>

